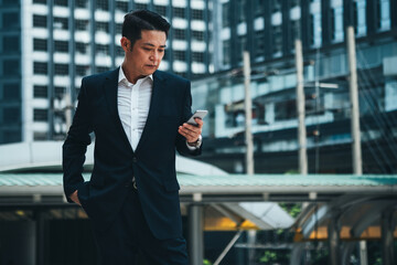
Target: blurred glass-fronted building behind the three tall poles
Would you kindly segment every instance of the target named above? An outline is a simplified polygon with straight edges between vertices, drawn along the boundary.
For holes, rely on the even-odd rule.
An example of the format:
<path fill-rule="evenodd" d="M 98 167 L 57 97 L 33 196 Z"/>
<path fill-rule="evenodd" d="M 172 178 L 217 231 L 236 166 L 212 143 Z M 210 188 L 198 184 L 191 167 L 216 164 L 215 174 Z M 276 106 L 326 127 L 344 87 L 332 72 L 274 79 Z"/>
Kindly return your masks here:
<path fill-rule="evenodd" d="M 245 172 L 242 52 L 251 61 L 255 172 L 298 169 L 294 40 L 303 43 L 309 172 L 351 173 L 346 26 L 355 31 L 363 171 L 397 170 L 397 1 L 214 2 L 216 74 L 193 82 L 210 110 L 200 159 Z"/>

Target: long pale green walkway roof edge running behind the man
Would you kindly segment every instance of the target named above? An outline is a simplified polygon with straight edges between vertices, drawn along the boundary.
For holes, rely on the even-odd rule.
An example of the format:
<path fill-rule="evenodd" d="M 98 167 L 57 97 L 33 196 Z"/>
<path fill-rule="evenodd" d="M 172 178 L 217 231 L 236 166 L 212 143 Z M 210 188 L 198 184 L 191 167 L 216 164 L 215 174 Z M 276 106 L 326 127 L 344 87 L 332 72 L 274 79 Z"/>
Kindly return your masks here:
<path fill-rule="evenodd" d="M 89 179 L 89 173 L 84 174 Z M 397 195 L 390 174 L 178 174 L 182 201 L 329 201 L 343 194 Z M 62 195 L 62 173 L 0 173 L 0 197 Z M 1 200 L 1 199 L 0 199 Z"/>

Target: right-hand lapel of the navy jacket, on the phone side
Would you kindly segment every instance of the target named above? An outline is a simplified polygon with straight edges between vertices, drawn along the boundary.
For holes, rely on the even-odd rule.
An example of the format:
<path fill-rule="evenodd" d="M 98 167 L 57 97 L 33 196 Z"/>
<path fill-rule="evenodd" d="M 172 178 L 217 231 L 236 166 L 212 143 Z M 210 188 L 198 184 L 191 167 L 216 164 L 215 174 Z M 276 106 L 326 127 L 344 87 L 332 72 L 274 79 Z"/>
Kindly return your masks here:
<path fill-rule="evenodd" d="M 161 75 L 161 72 L 155 71 L 153 73 L 153 88 L 150 99 L 149 114 L 136 152 L 138 152 L 139 149 L 141 149 L 144 142 L 148 140 L 149 131 L 151 129 L 154 129 L 155 127 L 155 123 L 158 121 L 158 117 L 160 114 L 160 102 L 162 97 L 162 92 L 164 91 L 163 88 L 165 86 L 165 81 L 167 80 Z"/>

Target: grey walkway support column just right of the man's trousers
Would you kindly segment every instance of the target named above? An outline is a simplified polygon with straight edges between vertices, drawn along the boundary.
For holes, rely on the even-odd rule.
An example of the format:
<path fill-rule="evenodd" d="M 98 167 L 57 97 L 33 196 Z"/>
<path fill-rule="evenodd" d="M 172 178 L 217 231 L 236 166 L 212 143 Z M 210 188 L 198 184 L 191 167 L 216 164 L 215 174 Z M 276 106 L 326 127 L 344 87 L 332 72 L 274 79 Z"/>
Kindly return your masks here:
<path fill-rule="evenodd" d="M 200 204 L 191 204 L 189 206 L 189 254 L 191 265 L 203 265 L 203 206 Z"/>

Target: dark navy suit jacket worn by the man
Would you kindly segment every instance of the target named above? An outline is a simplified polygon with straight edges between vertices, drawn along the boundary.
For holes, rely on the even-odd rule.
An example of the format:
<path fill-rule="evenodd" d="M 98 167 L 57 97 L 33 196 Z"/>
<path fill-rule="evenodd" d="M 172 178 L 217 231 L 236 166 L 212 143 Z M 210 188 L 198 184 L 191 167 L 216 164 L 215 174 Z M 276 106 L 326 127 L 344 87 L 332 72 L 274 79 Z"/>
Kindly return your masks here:
<path fill-rule="evenodd" d="M 115 220 L 127 195 L 126 183 L 136 178 L 148 225 L 155 237 L 182 235 L 175 149 L 197 156 L 186 147 L 178 127 L 191 112 L 190 82 L 157 71 L 148 119 L 136 150 L 122 128 L 117 107 L 119 68 L 83 78 L 73 124 L 63 145 L 64 191 L 78 190 L 83 209 L 94 227 L 105 230 Z M 94 169 L 82 177 L 87 146 L 95 134 Z"/>

